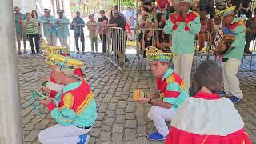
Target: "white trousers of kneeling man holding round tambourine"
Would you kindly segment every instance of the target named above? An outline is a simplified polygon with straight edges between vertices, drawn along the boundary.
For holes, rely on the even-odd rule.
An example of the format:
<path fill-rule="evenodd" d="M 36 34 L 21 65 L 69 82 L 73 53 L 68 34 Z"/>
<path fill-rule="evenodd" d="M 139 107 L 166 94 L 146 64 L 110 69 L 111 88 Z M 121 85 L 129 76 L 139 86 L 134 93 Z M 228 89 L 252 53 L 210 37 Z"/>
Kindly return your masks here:
<path fill-rule="evenodd" d="M 154 122 L 154 126 L 158 130 L 158 133 L 166 137 L 169 134 L 169 128 L 166 122 L 170 122 L 176 114 L 173 109 L 166 109 L 159 106 L 152 106 L 147 116 Z"/>

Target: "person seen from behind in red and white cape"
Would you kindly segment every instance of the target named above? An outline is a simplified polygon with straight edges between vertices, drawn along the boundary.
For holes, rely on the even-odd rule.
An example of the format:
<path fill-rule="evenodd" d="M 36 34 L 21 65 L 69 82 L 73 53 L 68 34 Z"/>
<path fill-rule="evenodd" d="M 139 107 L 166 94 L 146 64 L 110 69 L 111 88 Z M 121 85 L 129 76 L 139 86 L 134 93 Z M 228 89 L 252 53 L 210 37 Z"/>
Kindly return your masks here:
<path fill-rule="evenodd" d="M 166 144 L 251 144 L 244 122 L 228 98 L 218 96 L 222 69 L 202 62 L 194 74 L 191 91 L 170 124 Z"/>

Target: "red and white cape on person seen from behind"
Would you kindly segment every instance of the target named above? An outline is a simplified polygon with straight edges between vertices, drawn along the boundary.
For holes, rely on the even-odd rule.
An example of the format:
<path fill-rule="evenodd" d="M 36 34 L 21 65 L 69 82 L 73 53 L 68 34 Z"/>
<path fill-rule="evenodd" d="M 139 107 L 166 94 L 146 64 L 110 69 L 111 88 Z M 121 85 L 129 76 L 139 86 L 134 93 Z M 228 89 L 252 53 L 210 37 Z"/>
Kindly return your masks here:
<path fill-rule="evenodd" d="M 166 144 L 251 144 L 228 98 L 199 92 L 179 106 Z"/>

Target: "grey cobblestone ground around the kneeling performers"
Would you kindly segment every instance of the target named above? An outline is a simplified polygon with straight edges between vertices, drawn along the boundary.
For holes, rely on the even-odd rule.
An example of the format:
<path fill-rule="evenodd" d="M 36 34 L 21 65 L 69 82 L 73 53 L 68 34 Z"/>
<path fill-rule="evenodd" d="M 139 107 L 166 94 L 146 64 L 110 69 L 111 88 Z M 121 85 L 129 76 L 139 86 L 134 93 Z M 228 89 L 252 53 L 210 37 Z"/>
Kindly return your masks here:
<path fill-rule="evenodd" d="M 90 83 L 91 89 L 94 90 L 98 107 L 98 118 L 90 131 L 90 144 L 164 143 L 150 142 L 146 139 L 146 134 L 155 130 L 154 123 L 146 116 L 150 105 L 134 103 L 131 97 L 135 88 L 148 93 L 154 90 L 154 78 L 149 71 L 115 74 L 116 68 L 101 56 L 86 54 L 78 58 L 86 62 L 82 70 L 86 73 L 86 80 Z M 50 118 L 46 108 L 40 106 L 42 114 L 36 116 L 34 106 L 31 103 L 28 105 L 27 102 L 30 90 L 41 86 L 40 79 L 49 75 L 50 70 L 43 57 L 32 57 L 30 54 L 19 56 L 18 65 L 24 144 L 39 143 L 40 130 L 53 126 L 55 122 Z M 246 123 L 246 131 L 250 138 L 256 142 L 256 73 L 240 73 L 238 77 L 241 80 L 244 98 L 235 106 Z"/>

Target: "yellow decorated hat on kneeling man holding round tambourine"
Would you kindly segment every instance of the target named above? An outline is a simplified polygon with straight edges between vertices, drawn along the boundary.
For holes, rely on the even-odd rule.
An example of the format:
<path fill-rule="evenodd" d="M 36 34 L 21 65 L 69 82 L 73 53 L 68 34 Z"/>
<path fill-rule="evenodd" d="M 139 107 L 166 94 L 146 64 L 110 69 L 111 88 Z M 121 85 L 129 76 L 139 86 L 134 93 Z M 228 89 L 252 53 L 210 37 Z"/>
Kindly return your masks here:
<path fill-rule="evenodd" d="M 171 62 L 173 54 L 164 53 L 161 50 L 158 50 L 158 48 L 150 46 L 146 48 L 146 58 L 150 61 Z"/>

